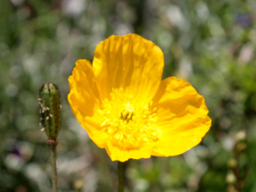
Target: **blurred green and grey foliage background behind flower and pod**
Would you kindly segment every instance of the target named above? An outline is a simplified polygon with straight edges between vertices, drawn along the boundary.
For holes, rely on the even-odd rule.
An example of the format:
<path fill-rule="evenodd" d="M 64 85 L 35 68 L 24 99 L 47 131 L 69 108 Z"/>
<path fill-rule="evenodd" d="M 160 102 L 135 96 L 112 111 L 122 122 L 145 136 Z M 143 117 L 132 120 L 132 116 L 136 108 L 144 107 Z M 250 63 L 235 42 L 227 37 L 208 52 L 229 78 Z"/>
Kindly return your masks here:
<path fill-rule="evenodd" d="M 59 86 L 60 191 L 113 191 L 116 162 L 77 123 L 67 78 L 110 35 L 137 33 L 164 52 L 164 77 L 205 97 L 212 127 L 175 157 L 129 161 L 127 191 L 256 191 L 256 1 L 1 0 L 0 191 L 51 191 L 38 89 Z"/>

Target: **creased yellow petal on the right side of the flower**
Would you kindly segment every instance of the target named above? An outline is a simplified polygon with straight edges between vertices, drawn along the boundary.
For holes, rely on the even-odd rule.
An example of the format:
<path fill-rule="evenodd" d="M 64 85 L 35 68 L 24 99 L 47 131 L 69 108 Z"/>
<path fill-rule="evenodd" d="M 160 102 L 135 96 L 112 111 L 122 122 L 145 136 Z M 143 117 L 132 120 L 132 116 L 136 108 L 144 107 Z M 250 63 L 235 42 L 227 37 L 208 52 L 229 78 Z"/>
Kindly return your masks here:
<path fill-rule="evenodd" d="M 153 99 L 156 125 L 162 132 L 152 155 L 179 155 L 196 146 L 209 131 L 211 119 L 202 95 L 185 80 L 164 79 Z"/>

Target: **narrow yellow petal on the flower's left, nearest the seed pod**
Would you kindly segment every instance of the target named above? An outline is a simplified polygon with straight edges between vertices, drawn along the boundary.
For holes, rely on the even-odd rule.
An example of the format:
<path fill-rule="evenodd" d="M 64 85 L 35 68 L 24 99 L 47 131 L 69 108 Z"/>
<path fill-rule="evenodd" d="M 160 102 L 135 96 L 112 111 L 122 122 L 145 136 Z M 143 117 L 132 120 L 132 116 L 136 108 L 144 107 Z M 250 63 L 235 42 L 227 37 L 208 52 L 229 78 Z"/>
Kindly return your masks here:
<path fill-rule="evenodd" d="M 91 62 L 85 59 L 78 60 L 68 81 L 68 101 L 77 121 L 99 147 L 105 147 L 108 135 L 101 131 L 102 117 L 98 113 L 101 101 Z"/>

